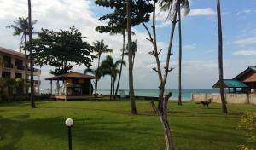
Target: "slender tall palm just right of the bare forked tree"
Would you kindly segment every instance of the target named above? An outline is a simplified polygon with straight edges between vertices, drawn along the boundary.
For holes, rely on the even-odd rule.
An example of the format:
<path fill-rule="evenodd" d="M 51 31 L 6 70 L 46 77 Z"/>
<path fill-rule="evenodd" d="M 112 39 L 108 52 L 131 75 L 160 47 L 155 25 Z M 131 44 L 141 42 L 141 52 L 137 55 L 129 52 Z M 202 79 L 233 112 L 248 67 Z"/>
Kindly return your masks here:
<path fill-rule="evenodd" d="M 162 11 L 169 11 L 171 13 L 173 0 L 160 1 L 160 10 Z M 184 14 L 189 14 L 190 6 L 189 0 L 181 0 L 179 3 L 178 8 L 178 42 L 179 42 L 179 49 L 178 49 L 178 105 L 182 105 L 182 28 L 181 28 L 181 9 L 184 10 Z"/>

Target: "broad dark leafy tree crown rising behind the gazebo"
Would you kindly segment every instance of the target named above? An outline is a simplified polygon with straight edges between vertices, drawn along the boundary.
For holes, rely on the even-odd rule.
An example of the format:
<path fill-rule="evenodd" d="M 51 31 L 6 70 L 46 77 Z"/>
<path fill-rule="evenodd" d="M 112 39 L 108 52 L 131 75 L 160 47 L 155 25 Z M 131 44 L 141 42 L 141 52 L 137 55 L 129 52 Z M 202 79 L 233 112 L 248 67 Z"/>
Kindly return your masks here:
<path fill-rule="evenodd" d="M 42 29 L 38 39 L 26 44 L 25 49 L 33 49 L 35 63 L 39 66 L 54 66 L 54 75 L 71 72 L 73 64 L 91 66 L 94 55 L 89 43 L 84 42 L 82 33 L 74 26 L 59 32 Z"/>

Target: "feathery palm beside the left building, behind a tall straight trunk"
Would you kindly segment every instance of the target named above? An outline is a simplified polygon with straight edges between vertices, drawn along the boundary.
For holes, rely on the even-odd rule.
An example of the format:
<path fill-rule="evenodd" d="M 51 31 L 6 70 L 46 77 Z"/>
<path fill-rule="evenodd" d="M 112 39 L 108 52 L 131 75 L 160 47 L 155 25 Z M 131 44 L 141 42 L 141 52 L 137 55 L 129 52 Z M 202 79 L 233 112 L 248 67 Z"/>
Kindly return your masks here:
<path fill-rule="evenodd" d="M 32 21 L 32 26 L 37 23 L 37 20 Z M 28 26 L 28 18 L 19 17 L 18 20 L 14 21 L 14 25 L 6 26 L 7 28 L 12 28 L 15 30 L 13 33 L 14 36 L 20 36 L 20 45 L 26 44 L 26 36 L 28 36 L 29 33 L 29 26 Z M 33 29 L 33 28 L 32 28 Z M 38 34 L 38 32 L 32 32 L 32 34 Z M 21 49 L 20 49 L 21 53 Z M 26 49 L 24 49 L 25 53 L 25 83 L 27 81 L 27 64 L 26 64 Z M 27 86 L 26 86 L 26 94 L 27 94 Z"/>

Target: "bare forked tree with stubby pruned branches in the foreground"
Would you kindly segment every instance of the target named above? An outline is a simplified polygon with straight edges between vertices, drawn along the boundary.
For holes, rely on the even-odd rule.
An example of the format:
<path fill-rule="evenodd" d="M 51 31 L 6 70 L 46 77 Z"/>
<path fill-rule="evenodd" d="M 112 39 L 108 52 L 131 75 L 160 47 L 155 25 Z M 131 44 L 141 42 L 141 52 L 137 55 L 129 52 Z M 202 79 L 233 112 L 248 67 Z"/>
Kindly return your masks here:
<path fill-rule="evenodd" d="M 167 0 L 160 0 L 160 7 L 164 6 L 167 2 Z M 154 112 L 160 115 L 160 120 L 161 123 L 163 124 L 164 131 L 165 131 L 165 140 L 166 140 L 166 149 L 167 150 L 173 150 L 174 145 L 173 145 L 173 140 L 172 140 L 172 132 L 171 132 L 171 127 L 170 124 L 168 123 L 168 118 L 167 118 L 167 103 L 169 98 L 172 96 L 172 92 L 170 92 L 167 95 L 164 95 L 165 93 L 165 86 L 166 86 L 166 80 L 168 77 L 169 72 L 172 72 L 172 68 L 170 68 L 170 57 L 172 55 L 172 42 L 173 42 L 173 36 L 174 36 L 174 31 L 175 31 L 175 26 L 177 23 L 177 13 L 180 7 L 180 0 L 173 0 L 171 7 L 169 8 L 168 12 L 168 17 L 167 20 L 172 21 L 172 29 L 171 29 L 171 34 L 170 34 L 170 40 L 169 40 L 169 45 L 167 49 L 167 54 L 166 54 L 166 66 L 162 68 L 160 65 L 160 52 L 162 49 L 158 50 L 157 46 L 157 40 L 156 40 L 156 28 L 155 28 L 155 9 L 156 9 L 156 3 L 157 0 L 153 0 L 153 17 L 152 17 L 152 32 L 148 29 L 148 26 L 146 26 L 143 23 L 144 28 L 148 32 L 148 40 L 150 43 L 152 43 L 154 50 L 149 52 L 150 55 L 153 55 L 156 61 L 156 66 L 154 67 L 153 70 L 158 73 L 158 78 L 159 78 L 159 105 L 158 107 L 155 107 L 154 101 L 151 101 L 151 105 L 154 109 Z"/>

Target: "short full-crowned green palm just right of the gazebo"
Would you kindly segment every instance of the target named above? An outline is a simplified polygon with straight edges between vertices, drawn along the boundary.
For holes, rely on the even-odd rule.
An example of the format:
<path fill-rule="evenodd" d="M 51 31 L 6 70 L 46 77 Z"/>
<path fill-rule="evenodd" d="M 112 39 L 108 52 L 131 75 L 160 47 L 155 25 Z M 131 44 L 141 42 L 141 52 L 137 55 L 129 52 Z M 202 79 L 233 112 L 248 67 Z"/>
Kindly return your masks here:
<path fill-rule="evenodd" d="M 112 98 L 112 95 L 114 95 L 114 84 L 117 76 L 120 74 L 119 65 L 121 64 L 126 66 L 125 61 L 119 59 L 114 62 L 110 55 L 107 55 L 101 64 L 102 75 L 110 75 L 110 99 Z"/>

